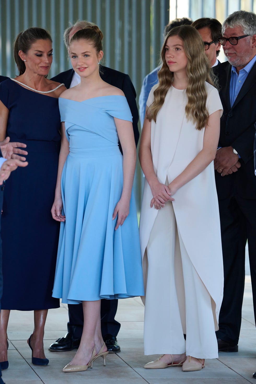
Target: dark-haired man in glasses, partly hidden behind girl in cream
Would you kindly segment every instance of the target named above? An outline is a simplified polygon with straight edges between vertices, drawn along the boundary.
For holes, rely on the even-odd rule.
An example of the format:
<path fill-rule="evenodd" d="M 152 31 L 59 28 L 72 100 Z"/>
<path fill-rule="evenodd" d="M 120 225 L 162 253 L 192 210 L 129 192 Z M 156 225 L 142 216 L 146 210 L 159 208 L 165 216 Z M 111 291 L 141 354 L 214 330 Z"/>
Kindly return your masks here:
<path fill-rule="evenodd" d="M 220 43 L 218 41 L 218 37 L 221 36 L 221 23 L 210 17 L 202 17 L 195 20 L 191 26 L 197 29 L 200 33 L 205 45 L 205 53 L 211 63 L 211 66 L 215 67 L 220 64 L 217 57 L 220 53 Z"/>

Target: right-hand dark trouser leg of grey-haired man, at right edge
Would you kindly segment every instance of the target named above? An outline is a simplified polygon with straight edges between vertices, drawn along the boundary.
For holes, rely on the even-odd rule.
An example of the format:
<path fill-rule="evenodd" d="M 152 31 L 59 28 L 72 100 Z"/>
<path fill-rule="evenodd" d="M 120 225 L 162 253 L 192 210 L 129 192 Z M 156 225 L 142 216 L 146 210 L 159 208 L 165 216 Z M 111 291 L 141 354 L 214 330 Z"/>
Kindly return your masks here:
<path fill-rule="evenodd" d="M 246 218 L 246 238 L 248 240 L 254 318 L 256 320 L 256 200 L 241 198 L 237 200 Z"/>

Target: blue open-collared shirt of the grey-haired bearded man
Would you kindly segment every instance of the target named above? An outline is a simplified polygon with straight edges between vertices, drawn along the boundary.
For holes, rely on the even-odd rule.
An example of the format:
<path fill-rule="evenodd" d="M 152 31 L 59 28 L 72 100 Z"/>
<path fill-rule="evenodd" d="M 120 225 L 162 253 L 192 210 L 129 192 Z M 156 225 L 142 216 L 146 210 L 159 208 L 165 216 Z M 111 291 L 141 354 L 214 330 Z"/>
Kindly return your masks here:
<path fill-rule="evenodd" d="M 232 107 L 235 103 L 238 93 L 243 86 L 244 81 L 246 80 L 250 70 L 253 68 L 254 63 L 256 62 L 256 55 L 254 56 L 249 63 L 239 71 L 239 74 L 236 72 L 236 67 L 232 65 L 231 67 L 231 78 L 230 78 L 230 106 Z"/>

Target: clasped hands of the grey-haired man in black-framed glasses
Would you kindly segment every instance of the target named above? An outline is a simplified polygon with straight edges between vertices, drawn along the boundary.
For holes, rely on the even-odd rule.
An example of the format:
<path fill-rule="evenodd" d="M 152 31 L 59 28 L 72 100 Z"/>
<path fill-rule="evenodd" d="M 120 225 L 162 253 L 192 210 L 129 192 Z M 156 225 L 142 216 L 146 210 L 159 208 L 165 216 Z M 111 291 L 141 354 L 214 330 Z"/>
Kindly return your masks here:
<path fill-rule="evenodd" d="M 241 164 L 238 161 L 238 155 L 233 152 L 232 147 L 223 147 L 218 149 L 214 159 L 214 169 L 217 170 L 221 176 L 228 175 L 232 172 L 236 172 Z M 238 164 L 238 166 L 236 166 Z M 235 166 L 235 168 L 234 168 Z M 231 172 L 230 172 L 231 170 Z"/>

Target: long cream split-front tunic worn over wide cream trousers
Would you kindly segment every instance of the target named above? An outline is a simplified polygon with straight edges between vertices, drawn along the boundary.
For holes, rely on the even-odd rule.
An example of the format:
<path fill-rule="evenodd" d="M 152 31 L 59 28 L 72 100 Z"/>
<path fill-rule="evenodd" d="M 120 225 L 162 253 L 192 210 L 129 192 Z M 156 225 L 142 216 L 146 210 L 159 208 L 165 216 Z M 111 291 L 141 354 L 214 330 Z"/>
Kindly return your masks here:
<path fill-rule="evenodd" d="M 208 83 L 206 107 L 210 114 L 223 110 L 216 88 Z M 154 86 L 147 106 L 154 101 Z M 185 90 L 170 87 L 157 114 L 151 122 L 151 152 L 155 174 L 160 183 L 175 179 L 203 149 L 205 128 L 198 131 L 185 115 L 187 96 Z M 223 297 L 223 260 L 221 249 L 220 217 L 215 186 L 213 162 L 197 177 L 183 185 L 173 195 L 173 209 L 180 234 L 193 266 L 212 298 L 215 330 Z M 140 246 L 147 285 L 147 243 L 158 210 L 150 208 L 152 192 L 145 179 L 140 214 Z M 164 208 L 163 208 L 164 209 Z M 156 292 L 158 294 L 158 292 Z M 145 302 L 145 298 L 142 297 Z"/>

